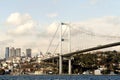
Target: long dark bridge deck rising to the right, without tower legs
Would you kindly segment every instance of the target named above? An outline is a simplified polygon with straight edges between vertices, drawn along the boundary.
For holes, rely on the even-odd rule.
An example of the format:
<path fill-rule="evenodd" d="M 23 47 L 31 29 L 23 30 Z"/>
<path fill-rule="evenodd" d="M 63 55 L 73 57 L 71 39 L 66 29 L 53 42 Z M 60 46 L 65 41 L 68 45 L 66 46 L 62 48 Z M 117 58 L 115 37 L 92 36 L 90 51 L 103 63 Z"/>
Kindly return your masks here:
<path fill-rule="evenodd" d="M 100 45 L 100 46 L 92 47 L 92 48 L 88 48 L 88 49 L 83 49 L 83 50 L 79 50 L 79 51 L 75 51 L 75 52 L 71 52 L 71 53 L 67 53 L 67 54 L 62 54 L 61 56 L 62 57 L 71 57 L 71 56 L 73 56 L 75 54 L 80 54 L 80 53 L 83 53 L 83 52 L 89 52 L 89 51 L 114 47 L 114 46 L 118 46 L 118 45 L 120 45 L 120 42 L 115 42 L 115 43 L 110 43 L 110 44 L 106 44 L 106 45 Z M 47 61 L 47 60 L 51 60 L 51 59 L 57 59 L 57 58 L 59 58 L 59 55 L 43 59 L 43 61 Z"/>

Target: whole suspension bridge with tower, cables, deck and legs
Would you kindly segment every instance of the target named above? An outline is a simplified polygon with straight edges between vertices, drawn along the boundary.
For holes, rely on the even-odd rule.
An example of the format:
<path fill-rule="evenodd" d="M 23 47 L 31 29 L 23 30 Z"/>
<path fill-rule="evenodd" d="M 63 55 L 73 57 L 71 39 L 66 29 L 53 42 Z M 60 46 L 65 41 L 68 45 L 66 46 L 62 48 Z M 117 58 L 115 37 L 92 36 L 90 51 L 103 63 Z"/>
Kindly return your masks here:
<path fill-rule="evenodd" d="M 45 57 L 42 60 L 49 61 L 49 60 L 58 59 L 59 60 L 58 62 L 59 63 L 59 74 L 62 74 L 62 61 L 64 60 L 63 58 L 67 58 L 68 73 L 71 74 L 71 60 L 74 58 L 73 57 L 74 55 L 89 52 L 89 51 L 111 48 L 111 47 L 120 45 L 119 36 L 108 36 L 108 35 L 95 34 L 83 28 L 80 28 L 80 29 L 81 30 L 79 30 L 78 28 L 75 29 L 73 28 L 73 26 L 71 26 L 68 23 L 61 23 L 57 27 L 52 37 L 52 40 L 50 42 L 50 45 L 46 53 L 50 52 L 50 47 L 52 46 L 53 43 L 55 43 L 54 39 L 58 40 L 57 45 L 54 47 L 54 50 L 51 56 Z M 72 31 L 72 30 L 75 30 L 75 31 Z M 57 32 L 59 32 L 59 38 L 58 38 Z M 75 36 L 77 36 L 77 38 L 75 38 Z M 86 39 L 86 43 L 85 43 L 85 39 L 83 38 Z M 97 41 L 94 41 L 96 39 Z M 82 43 L 85 46 L 83 46 Z M 66 48 L 66 45 L 68 48 Z M 59 50 L 58 50 L 58 47 L 59 47 Z"/>

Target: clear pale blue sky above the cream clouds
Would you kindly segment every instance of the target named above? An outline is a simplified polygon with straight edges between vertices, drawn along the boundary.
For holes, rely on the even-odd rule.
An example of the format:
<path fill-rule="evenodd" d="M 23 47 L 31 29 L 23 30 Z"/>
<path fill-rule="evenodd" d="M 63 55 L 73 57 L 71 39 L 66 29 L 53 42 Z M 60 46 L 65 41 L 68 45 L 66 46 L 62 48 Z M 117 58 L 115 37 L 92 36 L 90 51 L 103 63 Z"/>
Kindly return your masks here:
<path fill-rule="evenodd" d="M 94 17 L 120 15 L 119 0 L 1 0 L 2 21 L 11 13 L 29 13 L 35 20 L 48 23 L 54 20 L 80 21 Z M 47 14 L 58 17 L 49 19 Z"/>

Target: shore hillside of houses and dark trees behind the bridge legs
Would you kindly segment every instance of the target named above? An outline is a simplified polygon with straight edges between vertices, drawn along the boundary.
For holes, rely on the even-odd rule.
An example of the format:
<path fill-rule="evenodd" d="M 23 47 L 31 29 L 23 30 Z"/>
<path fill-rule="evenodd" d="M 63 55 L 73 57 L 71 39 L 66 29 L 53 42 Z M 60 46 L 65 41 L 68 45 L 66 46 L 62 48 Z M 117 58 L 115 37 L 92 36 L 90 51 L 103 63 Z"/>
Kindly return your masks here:
<path fill-rule="evenodd" d="M 13 48 L 11 48 L 13 49 Z M 28 50 L 28 51 L 27 51 Z M 31 54 L 32 50 L 27 49 L 26 54 Z M 6 48 L 8 51 L 8 47 Z M 1 75 L 46 75 L 59 74 L 58 59 L 44 61 L 52 53 L 42 54 L 32 57 L 31 55 L 21 56 L 21 51 L 11 52 L 11 57 L 0 60 Z M 9 54 L 11 54 L 9 53 Z M 54 55 L 52 55 L 54 56 Z M 117 75 L 120 74 L 120 52 L 94 51 L 75 54 L 72 59 L 72 74 L 74 75 Z M 63 74 L 68 73 L 68 61 L 63 60 Z"/>

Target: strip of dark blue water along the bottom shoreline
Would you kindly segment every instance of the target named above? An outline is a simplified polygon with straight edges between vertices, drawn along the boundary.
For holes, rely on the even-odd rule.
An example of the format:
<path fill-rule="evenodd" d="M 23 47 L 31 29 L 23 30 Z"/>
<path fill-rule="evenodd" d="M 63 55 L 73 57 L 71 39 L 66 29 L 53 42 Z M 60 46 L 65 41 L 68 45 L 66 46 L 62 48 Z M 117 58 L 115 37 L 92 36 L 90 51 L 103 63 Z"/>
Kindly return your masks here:
<path fill-rule="evenodd" d="M 4 75 L 0 76 L 0 80 L 120 80 L 120 75 Z"/>

